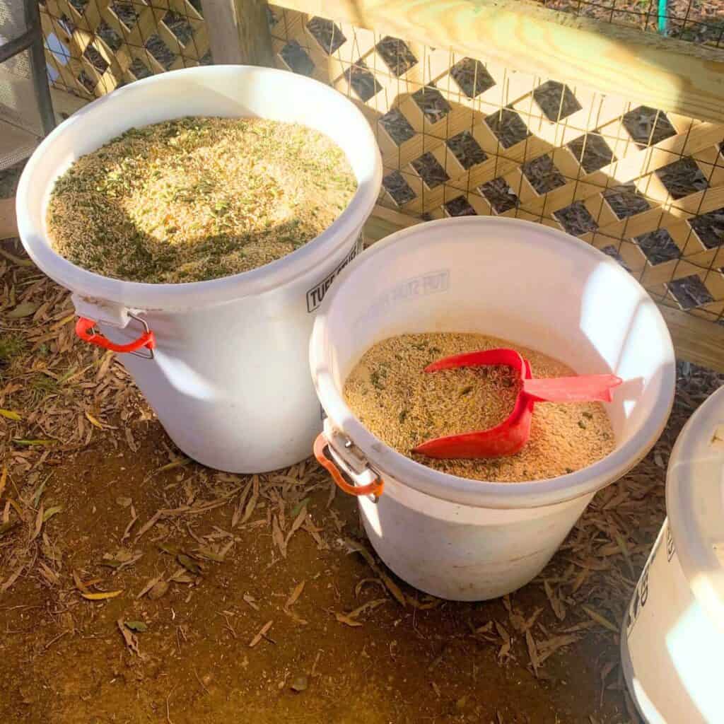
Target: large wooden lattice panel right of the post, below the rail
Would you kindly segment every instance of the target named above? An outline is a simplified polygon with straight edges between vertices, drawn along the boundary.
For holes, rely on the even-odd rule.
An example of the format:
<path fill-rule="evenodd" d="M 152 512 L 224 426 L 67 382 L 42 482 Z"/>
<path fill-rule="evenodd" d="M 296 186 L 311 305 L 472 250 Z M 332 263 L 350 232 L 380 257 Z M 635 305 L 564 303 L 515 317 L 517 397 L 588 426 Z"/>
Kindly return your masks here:
<path fill-rule="evenodd" d="M 369 119 L 383 206 L 566 230 L 617 258 L 661 303 L 723 321 L 723 126 L 271 11 L 277 66 L 332 85 Z"/>

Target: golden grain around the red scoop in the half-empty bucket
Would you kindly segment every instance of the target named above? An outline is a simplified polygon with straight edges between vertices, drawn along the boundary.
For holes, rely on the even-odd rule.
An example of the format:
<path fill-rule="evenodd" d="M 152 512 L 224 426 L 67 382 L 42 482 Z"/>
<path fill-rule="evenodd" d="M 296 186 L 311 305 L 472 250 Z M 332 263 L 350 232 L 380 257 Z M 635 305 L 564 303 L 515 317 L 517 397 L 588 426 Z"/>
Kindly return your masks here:
<path fill-rule="evenodd" d="M 483 334 L 403 334 L 367 350 L 345 382 L 345 400 L 386 445 L 429 468 L 463 478 L 542 480 L 585 468 L 613 451 L 613 429 L 602 404 L 536 403 L 531 437 L 517 455 L 437 460 L 411 452 L 426 439 L 486 429 L 510 415 L 520 389 L 512 369 L 423 371 L 448 355 L 497 347 L 521 353 L 536 377 L 575 374 L 547 355 Z"/>

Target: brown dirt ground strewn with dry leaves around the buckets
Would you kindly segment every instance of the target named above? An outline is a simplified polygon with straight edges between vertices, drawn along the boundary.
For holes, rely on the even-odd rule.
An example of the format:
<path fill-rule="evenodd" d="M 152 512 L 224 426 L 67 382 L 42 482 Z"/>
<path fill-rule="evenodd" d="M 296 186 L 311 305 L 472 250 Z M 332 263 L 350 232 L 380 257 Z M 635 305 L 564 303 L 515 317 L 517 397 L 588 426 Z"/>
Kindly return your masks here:
<path fill-rule="evenodd" d="M 636 721 L 618 630 L 675 437 L 724 376 L 680 363 L 660 442 L 539 578 L 445 602 L 386 571 L 311 460 L 183 458 L 12 240 L 0 285 L 0 722 Z"/>

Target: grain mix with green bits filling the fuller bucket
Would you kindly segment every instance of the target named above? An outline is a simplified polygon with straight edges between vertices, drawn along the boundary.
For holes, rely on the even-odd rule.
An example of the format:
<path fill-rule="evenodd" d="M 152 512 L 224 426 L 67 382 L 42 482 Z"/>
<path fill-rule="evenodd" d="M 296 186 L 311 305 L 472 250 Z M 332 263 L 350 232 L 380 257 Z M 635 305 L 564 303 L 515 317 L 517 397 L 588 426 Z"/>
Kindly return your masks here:
<path fill-rule="evenodd" d="M 77 159 L 47 213 L 54 250 L 132 282 L 200 282 L 256 269 L 337 219 L 357 183 L 316 130 L 256 118 L 132 128 Z"/>

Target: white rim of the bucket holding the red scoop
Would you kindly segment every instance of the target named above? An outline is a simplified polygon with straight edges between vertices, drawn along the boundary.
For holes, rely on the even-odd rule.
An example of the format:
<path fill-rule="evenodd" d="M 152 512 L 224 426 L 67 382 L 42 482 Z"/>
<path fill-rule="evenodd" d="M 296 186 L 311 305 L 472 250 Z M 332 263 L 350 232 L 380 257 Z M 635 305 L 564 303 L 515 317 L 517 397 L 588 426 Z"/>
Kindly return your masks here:
<path fill-rule="evenodd" d="M 584 250 L 584 253 L 589 253 L 596 261 L 612 265 L 615 273 L 620 274 L 622 279 L 626 279 L 626 283 L 639 287 L 641 292 L 644 292 L 643 303 L 647 306 L 650 305 L 655 312 L 654 319 L 662 339 L 668 341 L 666 358 L 662 365 L 663 374 L 659 382 L 659 390 L 657 390 L 657 397 L 665 400 L 665 414 L 649 416 L 630 439 L 592 466 L 555 478 L 519 483 L 479 481 L 461 478 L 449 473 L 441 473 L 421 465 L 421 463 L 416 463 L 415 460 L 406 458 L 405 455 L 393 450 L 380 439 L 374 437 L 346 405 L 344 398 L 337 391 L 332 373 L 327 366 L 326 361 L 331 356 L 329 355 L 331 342 L 326 334 L 327 316 L 334 307 L 334 300 L 341 292 L 345 282 L 355 273 L 355 269 L 360 264 L 369 261 L 370 258 L 377 254 L 384 253 L 388 247 L 404 240 L 405 237 L 420 233 L 423 227 L 428 229 L 431 226 L 454 228 L 463 224 L 490 224 L 491 226 L 515 224 L 521 227 L 521 232 L 524 232 L 529 226 L 534 226 L 536 232 L 547 233 L 555 238 L 558 243 L 569 246 L 575 245 L 578 251 Z M 494 216 L 458 216 L 451 219 L 437 219 L 424 224 L 417 224 L 395 232 L 364 251 L 361 256 L 355 259 L 353 264 L 350 264 L 342 271 L 340 277 L 337 278 L 334 285 L 327 292 L 321 310 L 314 322 L 310 340 L 309 361 L 317 396 L 327 416 L 342 433 L 362 450 L 369 459 L 371 466 L 382 473 L 383 478 L 387 474 L 400 484 L 423 494 L 459 503 L 460 505 L 471 505 L 479 508 L 539 508 L 546 505 L 556 505 L 560 502 L 597 492 L 609 484 L 610 481 L 622 477 L 647 455 L 647 452 L 662 434 L 673 406 L 676 381 L 675 355 L 668 327 L 652 298 L 628 271 L 602 251 L 563 231 L 523 219 Z M 344 421 L 344 424 L 341 421 Z"/>

